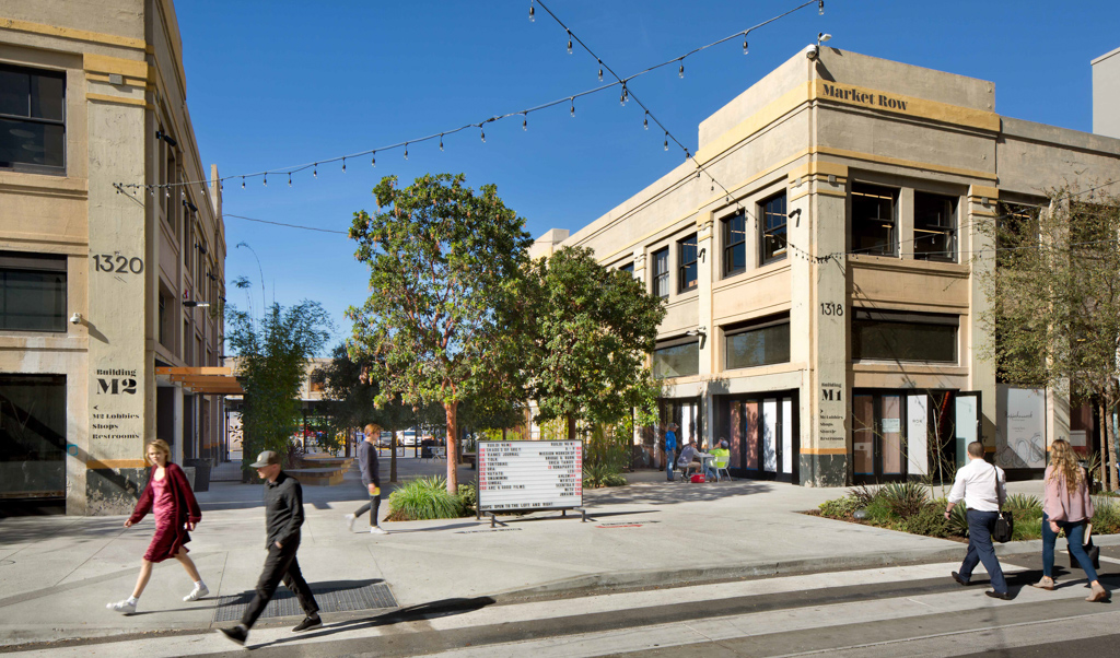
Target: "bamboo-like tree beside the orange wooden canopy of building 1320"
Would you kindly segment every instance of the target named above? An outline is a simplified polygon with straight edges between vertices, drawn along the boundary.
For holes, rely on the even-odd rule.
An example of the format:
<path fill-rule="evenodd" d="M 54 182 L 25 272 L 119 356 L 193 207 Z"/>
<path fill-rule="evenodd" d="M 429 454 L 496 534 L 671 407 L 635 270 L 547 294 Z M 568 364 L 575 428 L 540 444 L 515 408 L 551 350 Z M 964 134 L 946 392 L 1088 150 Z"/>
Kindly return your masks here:
<path fill-rule="evenodd" d="M 236 374 L 245 391 L 242 469 L 248 470 L 262 450 L 274 450 L 287 460 L 307 364 L 326 345 L 330 317 L 308 300 L 287 310 L 272 304 L 259 322 L 234 307 L 226 313 L 226 340 L 237 355 Z"/>

